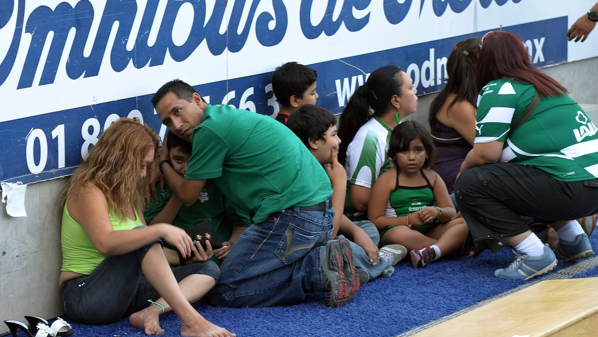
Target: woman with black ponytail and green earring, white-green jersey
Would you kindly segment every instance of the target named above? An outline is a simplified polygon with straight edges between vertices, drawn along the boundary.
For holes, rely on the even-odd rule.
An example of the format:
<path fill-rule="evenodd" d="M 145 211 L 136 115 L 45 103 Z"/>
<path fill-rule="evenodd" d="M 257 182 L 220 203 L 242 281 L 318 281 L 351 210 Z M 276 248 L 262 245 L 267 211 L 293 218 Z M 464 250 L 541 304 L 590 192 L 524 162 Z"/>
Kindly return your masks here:
<path fill-rule="evenodd" d="M 392 129 L 414 113 L 417 90 L 398 66 L 374 70 L 349 99 L 340 117 L 338 136 L 343 139 L 338 162 L 349 180 L 346 214 L 365 220 L 371 188 L 380 174 L 392 166 L 386 152 Z"/>

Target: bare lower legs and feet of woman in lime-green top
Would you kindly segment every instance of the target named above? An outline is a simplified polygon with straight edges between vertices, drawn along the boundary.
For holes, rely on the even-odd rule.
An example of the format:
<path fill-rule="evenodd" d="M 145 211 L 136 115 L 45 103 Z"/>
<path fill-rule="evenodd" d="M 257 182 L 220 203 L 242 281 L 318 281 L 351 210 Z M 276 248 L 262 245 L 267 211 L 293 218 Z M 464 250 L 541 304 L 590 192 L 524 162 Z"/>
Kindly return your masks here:
<path fill-rule="evenodd" d="M 234 333 L 210 323 L 190 304 L 190 300 L 195 302 L 213 286 L 213 278 L 210 277 L 212 281 L 209 281 L 208 285 L 200 285 L 197 281 L 204 281 L 205 278 L 187 277 L 181 281 L 181 286 L 179 286 L 164 256 L 164 252 L 158 244 L 155 244 L 145 254 L 141 269 L 149 284 L 162 295 L 157 302 L 167 309 L 172 309 L 181 320 L 181 335 L 193 337 L 236 336 Z M 199 289 L 194 289 L 194 286 Z M 169 305 L 166 303 L 169 303 Z M 163 332 L 158 324 L 158 315 L 161 312 L 160 306 L 152 305 L 135 312 L 131 315 L 129 321 L 133 326 L 144 328 L 147 335 L 158 334 Z"/>

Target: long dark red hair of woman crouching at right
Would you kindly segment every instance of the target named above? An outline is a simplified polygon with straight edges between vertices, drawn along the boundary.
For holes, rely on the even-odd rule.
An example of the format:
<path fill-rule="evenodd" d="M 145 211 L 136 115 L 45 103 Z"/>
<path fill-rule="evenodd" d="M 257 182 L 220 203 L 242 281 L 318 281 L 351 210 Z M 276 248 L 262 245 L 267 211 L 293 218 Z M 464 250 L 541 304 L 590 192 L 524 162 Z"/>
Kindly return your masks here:
<path fill-rule="evenodd" d="M 475 85 L 480 92 L 490 81 L 504 77 L 532 84 L 543 97 L 563 96 L 563 92 L 567 92 L 559 82 L 536 69 L 517 35 L 505 31 L 490 32 L 481 42 Z"/>

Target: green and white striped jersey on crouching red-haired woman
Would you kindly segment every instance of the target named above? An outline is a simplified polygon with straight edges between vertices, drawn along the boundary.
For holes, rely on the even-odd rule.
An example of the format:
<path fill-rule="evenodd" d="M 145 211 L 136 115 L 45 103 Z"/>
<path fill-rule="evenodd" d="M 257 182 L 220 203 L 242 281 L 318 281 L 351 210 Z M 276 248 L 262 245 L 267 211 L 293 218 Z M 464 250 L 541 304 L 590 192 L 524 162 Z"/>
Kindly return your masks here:
<path fill-rule="evenodd" d="M 501 162 L 541 169 L 560 181 L 598 178 L 598 129 L 567 93 L 542 98 L 512 135 L 536 88 L 512 79 L 486 84 L 478 96 L 474 143 L 504 141 Z"/>

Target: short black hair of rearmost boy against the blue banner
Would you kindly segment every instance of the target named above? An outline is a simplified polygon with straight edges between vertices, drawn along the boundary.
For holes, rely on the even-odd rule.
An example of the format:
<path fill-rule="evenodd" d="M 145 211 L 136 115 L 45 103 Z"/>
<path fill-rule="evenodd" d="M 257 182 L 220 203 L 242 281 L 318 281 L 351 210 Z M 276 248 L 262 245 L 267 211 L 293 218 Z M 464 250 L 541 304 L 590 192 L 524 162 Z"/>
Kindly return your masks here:
<path fill-rule="evenodd" d="M 297 62 L 286 62 L 274 70 L 272 90 L 280 104 L 291 105 L 291 96 L 303 98 L 303 93 L 318 80 L 318 73 Z"/>

